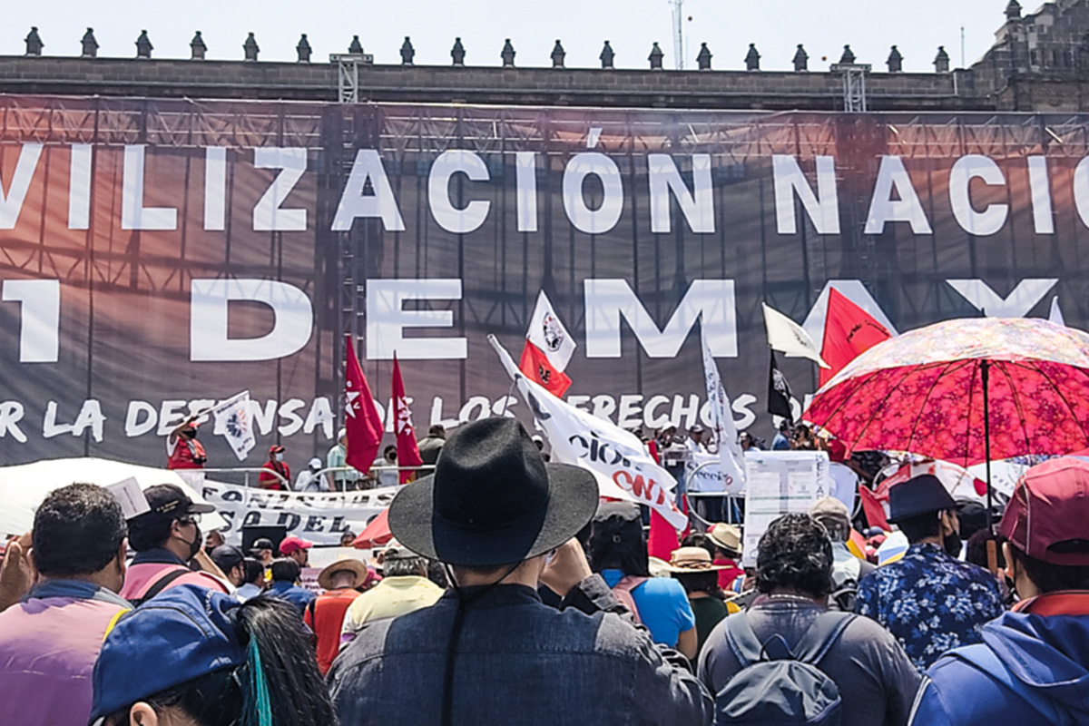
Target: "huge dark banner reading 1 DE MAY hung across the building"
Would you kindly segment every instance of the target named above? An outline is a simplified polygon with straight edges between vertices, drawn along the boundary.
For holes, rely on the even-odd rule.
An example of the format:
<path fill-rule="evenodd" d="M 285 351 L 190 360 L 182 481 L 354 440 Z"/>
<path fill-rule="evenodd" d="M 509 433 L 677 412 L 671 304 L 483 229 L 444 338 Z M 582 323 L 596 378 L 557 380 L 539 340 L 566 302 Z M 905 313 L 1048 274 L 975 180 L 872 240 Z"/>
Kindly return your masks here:
<path fill-rule="evenodd" d="M 702 333 L 769 436 L 761 302 L 818 341 L 832 285 L 890 330 L 1054 295 L 1084 327 L 1087 122 L 3 96 L 0 462 L 161 465 L 249 390 L 248 463 L 279 440 L 297 468 L 340 423 L 344 333 L 388 430 L 394 352 L 419 428 L 528 420 L 486 335 L 519 347 L 541 290 L 567 402 L 707 426 Z"/>

